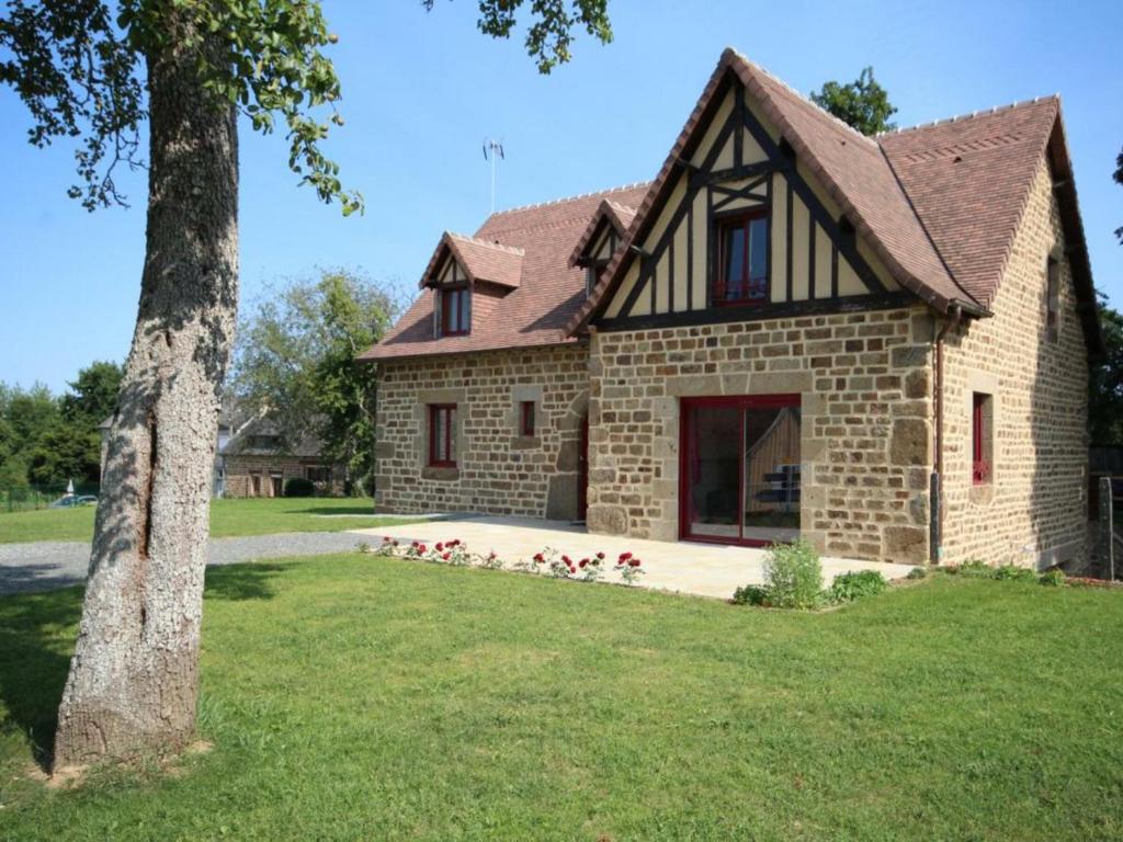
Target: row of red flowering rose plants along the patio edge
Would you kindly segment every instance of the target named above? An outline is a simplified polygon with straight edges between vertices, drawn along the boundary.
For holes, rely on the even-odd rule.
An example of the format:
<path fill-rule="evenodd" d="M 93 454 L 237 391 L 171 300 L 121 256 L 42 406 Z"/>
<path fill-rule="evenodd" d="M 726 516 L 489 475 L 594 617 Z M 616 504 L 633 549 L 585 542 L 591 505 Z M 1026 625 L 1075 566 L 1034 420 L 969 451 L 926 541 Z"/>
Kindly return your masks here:
<path fill-rule="evenodd" d="M 643 575 L 642 561 L 632 552 L 621 552 L 615 561 L 610 561 L 603 552 L 597 552 L 581 559 L 574 559 L 553 547 L 544 547 L 530 559 L 518 559 L 506 564 L 494 550 L 487 555 L 472 552 L 468 546 L 458 538 L 438 541 L 433 544 L 411 541 L 403 544 L 393 538 L 383 538 L 374 550 L 368 544 L 359 544 L 360 552 L 373 552 L 375 556 L 409 558 L 432 564 L 453 565 L 458 567 L 473 566 L 490 570 L 513 570 L 551 576 L 556 579 L 575 579 L 577 582 L 597 582 L 606 573 L 614 573 L 624 585 L 633 585 Z"/>

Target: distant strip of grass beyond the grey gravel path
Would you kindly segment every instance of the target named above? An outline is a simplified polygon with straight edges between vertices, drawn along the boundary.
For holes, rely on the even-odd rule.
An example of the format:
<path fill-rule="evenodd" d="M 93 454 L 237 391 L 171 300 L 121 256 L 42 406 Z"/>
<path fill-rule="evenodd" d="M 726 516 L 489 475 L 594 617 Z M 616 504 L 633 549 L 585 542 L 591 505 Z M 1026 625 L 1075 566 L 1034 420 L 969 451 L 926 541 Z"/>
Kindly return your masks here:
<path fill-rule="evenodd" d="M 211 536 L 265 536 L 274 532 L 339 532 L 347 529 L 407 523 L 372 514 L 374 504 L 356 497 L 274 497 L 211 502 Z M 0 514 L 0 543 L 21 541 L 89 541 L 94 506 L 40 509 Z M 371 515 L 326 518 L 322 515 Z"/>

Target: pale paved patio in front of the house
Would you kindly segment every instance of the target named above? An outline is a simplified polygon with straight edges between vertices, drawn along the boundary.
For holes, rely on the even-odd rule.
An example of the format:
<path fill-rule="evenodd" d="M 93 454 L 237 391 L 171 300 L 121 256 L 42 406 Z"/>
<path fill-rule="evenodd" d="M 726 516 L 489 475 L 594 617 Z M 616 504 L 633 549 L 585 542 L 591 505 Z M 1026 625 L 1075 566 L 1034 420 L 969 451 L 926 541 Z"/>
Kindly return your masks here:
<path fill-rule="evenodd" d="M 657 591 L 672 591 L 696 596 L 728 600 L 741 585 L 764 582 L 765 550 L 749 547 L 725 547 L 711 543 L 641 541 L 632 538 L 590 534 L 584 527 L 564 521 L 530 518 L 457 518 L 409 523 L 401 527 L 353 530 L 349 534 L 369 536 L 377 546 L 383 536 L 399 541 L 418 540 L 427 544 L 460 539 L 472 552 L 486 555 L 494 550 L 508 564 L 530 559 L 545 547 L 553 547 L 570 558 L 579 559 L 603 551 L 609 560 L 621 552 L 632 552 L 642 561 L 646 574 L 638 585 Z M 886 578 L 905 576 L 907 565 L 858 561 L 846 558 L 823 558 L 823 584 L 851 570 L 879 570 Z M 613 574 L 603 580 L 612 582 Z"/>

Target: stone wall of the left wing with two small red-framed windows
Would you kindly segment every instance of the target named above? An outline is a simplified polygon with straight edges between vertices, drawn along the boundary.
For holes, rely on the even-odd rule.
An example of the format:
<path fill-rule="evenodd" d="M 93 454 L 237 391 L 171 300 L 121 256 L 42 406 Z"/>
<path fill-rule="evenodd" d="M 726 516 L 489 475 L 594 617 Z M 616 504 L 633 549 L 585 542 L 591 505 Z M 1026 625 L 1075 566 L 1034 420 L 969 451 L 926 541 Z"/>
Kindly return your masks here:
<path fill-rule="evenodd" d="M 385 512 L 482 512 L 573 520 L 588 347 L 382 361 L 375 504 Z M 519 430 L 533 401 L 536 434 Z M 455 468 L 428 466 L 428 405 L 457 406 Z"/>

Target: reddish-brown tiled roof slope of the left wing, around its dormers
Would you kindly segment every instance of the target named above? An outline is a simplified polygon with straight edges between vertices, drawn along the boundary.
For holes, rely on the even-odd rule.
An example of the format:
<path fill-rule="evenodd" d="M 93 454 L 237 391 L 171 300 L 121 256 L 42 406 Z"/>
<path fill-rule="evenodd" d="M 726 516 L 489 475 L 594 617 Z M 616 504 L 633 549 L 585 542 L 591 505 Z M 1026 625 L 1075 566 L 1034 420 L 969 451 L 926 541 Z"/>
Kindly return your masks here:
<path fill-rule="evenodd" d="M 569 253 L 602 200 L 634 207 L 647 189 L 648 184 L 631 184 L 493 213 L 472 239 L 485 244 L 497 240 L 522 253 L 519 287 L 496 300 L 489 317 L 474 323 L 471 333 L 439 339 L 433 338 L 432 330 L 435 293 L 427 290 L 386 337 L 358 358 L 377 360 L 576 341 L 563 328 L 585 300 L 585 274 L 568 265 Z"/>

